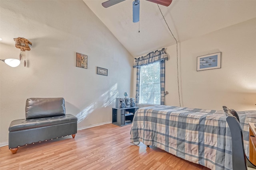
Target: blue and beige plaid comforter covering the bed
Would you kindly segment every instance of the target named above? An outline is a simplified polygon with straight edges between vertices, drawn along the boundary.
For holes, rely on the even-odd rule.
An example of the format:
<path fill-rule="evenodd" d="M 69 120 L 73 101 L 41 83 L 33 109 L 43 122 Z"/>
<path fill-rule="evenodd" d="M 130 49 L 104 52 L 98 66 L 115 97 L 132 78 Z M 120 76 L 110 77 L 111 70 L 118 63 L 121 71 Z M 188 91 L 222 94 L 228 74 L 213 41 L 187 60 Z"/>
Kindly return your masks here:
<path fill-rule="evenodd" d="M 256 111 L 237 111 L 249 156 L 249 125 Z M 130 142 L 142 142 L 212 170 L 232 170 L 231 137 L 224 111 L 150 106 L 136 111 Z"/>

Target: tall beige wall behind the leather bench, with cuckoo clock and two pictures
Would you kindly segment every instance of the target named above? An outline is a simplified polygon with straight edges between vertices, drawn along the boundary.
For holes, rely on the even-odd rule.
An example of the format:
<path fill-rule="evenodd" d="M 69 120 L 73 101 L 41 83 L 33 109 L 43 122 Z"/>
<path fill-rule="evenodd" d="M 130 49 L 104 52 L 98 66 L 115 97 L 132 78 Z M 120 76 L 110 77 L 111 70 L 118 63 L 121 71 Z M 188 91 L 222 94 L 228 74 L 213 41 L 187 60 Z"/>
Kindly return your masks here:
<path fill-rule="evenodd" d="M 0 63 L 0 146 L 8 127 L 25 118 L 31 97 L 63 97 L 78 129 L 112 122 L 115 98 L 132 96 L 133 59 L 83 1 L 0 2 L 0 58 L 16 58 L 13 38 L 32 42 L 27 67 Z M 76 52 L 88 55 L 88 69 L 76 67 Z M 96 74 L 96 67 L 108 76 Z"/>

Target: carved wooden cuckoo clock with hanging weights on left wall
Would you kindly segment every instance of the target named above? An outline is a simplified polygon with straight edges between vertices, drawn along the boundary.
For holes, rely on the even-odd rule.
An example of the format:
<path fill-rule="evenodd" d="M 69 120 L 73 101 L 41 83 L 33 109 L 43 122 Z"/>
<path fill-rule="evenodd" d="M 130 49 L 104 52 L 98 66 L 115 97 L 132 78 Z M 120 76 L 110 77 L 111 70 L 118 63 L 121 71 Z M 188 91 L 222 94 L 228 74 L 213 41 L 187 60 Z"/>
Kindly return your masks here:
<path fill-rule="evenodd" d="M 32 45 L 30 41 L 28 41 L 26 38 L 18 37 L 13 39 L 15 41 L 15 47 L 17 49 L 20 49 L 20 61 L 22 60 L 22 57 L 24 57 L 24 67 L 26 66 L 26 55 L 25 51 L 30 51 L 30 47 L 28 45 Z"/>

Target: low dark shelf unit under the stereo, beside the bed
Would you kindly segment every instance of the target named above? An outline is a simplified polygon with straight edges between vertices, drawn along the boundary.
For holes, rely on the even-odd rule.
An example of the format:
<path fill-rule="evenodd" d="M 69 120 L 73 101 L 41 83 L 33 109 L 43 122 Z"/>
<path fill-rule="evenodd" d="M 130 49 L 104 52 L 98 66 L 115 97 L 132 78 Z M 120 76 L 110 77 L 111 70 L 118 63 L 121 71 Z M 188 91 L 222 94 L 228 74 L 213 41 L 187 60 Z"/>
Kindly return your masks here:
<path fill-rule="evenodd" d="M 129 125 L 132 123 L 134 113 L 139 107 L 112 108 L 112 123 L 118 126 Z M 126 113 L 128 111 L 129 113 Z"/>

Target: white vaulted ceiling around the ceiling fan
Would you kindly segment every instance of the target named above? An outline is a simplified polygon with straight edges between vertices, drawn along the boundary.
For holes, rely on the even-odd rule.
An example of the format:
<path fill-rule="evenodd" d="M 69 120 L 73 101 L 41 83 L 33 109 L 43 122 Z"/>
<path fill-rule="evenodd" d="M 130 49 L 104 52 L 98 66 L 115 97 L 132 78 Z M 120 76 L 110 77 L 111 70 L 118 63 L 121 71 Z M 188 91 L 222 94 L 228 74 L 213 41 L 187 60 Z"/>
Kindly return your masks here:
<path fill-rule="evenodd" d="M 133 23 L 132 0 L 109 8 L 105 1 L 84 0 L 134 57 L 175 44 L 157 4 L 140 0 L 140 23 Z M 256 18 L 256 0 L 173 0 L 159 7 L 178 42 Z"/>

